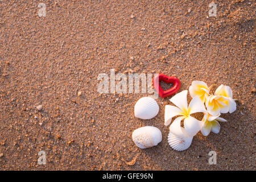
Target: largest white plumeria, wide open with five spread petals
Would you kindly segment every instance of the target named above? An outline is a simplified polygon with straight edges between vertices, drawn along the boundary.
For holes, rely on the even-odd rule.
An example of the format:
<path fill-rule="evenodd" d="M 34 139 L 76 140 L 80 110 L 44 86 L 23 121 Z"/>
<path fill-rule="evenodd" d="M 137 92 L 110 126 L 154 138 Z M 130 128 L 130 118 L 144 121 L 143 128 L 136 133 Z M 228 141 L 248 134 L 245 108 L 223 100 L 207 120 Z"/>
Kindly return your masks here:
<path fill-rule="evenodd" d="M 191 117 L 193 113 L 205 113 L 205 107 L 199 97 L 194 97 L 188 106 L 187 102 L 188 90 L 184 90 L 170 99 L 170 101 L 176 105 L 166 105 L 164 113 L 164 125 L 169 125 L 172 118 L 177 117 L 170 126 L 170 132 L 177 137 L 184 137 L 184 135 L 193 137 L 201 129 L 201 121 L 194 117 Z M 180 122 L 184 119 L 184 128 L 180 126 Z"/>

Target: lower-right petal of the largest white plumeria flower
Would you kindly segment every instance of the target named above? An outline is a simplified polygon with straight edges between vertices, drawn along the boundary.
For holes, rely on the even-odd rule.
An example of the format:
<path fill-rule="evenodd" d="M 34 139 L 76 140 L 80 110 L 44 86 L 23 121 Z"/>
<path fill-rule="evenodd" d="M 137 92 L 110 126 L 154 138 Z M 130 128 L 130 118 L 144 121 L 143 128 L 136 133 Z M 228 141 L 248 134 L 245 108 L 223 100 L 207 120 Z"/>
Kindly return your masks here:
<path fill-rule="evenodd" d="M 191 116 L 184 119 L 184 127 L 189 137 L 195 136 L 201 129 L 200 121 Z"/>

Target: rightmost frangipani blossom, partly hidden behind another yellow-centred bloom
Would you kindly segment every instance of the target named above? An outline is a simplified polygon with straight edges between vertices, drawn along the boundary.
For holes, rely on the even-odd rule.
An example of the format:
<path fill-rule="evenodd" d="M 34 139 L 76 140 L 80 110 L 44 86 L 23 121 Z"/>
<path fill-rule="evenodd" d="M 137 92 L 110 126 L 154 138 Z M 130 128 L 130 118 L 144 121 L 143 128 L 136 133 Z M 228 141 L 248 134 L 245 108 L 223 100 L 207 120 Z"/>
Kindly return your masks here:
<path fill-rule="evenodd" d="M 233 111 L 235 111 L 237 109 L 237 104 L 233 100 L 232 89 L 229 86 L 221 84 L 216 89 L 214 95 L 215 96 L 223 96 L 223 97 L 228 98 L 228 100 L 224 101 L 224 103 L 229 106 L 229 113 L 233 113 Z"/>

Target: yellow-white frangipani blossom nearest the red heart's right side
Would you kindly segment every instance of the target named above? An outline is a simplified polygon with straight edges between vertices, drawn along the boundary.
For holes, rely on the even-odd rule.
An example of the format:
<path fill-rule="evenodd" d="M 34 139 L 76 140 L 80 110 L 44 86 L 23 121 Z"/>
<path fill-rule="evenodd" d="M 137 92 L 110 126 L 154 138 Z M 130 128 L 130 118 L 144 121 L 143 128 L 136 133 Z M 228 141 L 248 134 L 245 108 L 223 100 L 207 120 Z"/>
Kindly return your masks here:
<path fill-rule="evenodd" d="M 205 102 L 206 97 L 209 96 L 210 88 L 203 81 L 192 81 L 189 86 L 189 94 L 192 98 L 198 96 L 202 102 Z"/>

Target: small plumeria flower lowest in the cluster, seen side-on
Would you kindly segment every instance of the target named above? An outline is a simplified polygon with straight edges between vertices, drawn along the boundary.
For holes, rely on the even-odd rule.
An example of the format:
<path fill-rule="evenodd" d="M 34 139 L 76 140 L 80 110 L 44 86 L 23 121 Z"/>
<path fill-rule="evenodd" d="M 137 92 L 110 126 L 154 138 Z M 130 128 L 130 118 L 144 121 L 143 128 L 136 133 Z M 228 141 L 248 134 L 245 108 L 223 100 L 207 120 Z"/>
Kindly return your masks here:
<path fill-rule="evenodd" d="M 226 122 L 226 119 L 221 118 L 219 116 L 220 114 L 214 116 L 210 115 L 209 113 L 204 114 L 201 126 L 201 133 L 204 136 L 208 136 L 210 131 L 216 134 L 220 132 L 220 123 L 218 123 L 218 121 Z"/>

